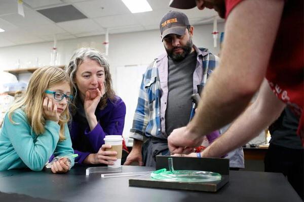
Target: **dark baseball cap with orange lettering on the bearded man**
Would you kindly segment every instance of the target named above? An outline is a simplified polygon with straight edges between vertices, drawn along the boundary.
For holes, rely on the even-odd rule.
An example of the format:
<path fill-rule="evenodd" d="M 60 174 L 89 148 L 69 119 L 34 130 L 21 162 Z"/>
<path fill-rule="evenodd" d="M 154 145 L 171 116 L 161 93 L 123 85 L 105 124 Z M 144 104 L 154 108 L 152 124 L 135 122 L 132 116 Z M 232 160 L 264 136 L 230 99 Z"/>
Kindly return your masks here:
<path fill-rule="evenodd" d="M 168 34 L 184 35 L 186 27 L 190 26 L 188 17 L 178 11 L 169 11 L 161 20 L 160 30 L 162 40 Z"/>

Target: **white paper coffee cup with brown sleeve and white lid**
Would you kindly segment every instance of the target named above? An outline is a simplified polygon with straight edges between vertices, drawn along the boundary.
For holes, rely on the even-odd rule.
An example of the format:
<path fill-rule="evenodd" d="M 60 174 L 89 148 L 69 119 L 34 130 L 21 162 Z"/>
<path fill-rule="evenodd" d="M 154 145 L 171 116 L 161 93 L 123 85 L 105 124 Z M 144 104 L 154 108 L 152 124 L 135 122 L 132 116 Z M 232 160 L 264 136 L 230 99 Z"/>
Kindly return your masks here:
<path fill-rule="evenodd" d="M 103 138 L 105 144 L 110 144 L 112 147 L 105 149 L 106 151 L 116 151 L 117 155 L 109 156 L 116 157 L 117 160 L 113 161 L 114 165 L 108 165 L 108 167 L 119 168 L 122 164 L 122 153 L 123 153 L 123 137 L 121 135 L 106 135 Z"/>

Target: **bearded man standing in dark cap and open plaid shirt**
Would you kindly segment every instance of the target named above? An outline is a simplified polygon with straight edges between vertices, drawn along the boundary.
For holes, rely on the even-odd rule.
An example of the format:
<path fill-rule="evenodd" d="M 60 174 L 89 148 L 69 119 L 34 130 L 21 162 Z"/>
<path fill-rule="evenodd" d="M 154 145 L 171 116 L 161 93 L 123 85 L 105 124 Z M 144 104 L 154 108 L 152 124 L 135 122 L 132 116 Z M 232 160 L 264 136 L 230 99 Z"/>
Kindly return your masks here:
<path fill-rule="evenodd" d="M 137 162 L 140 166 L 155 166 L 157 155 L 170 155 L 168 135 L 189 122 L 194 113 L 191 95 L 204 87 L 218 64 L 218 58 L 207 48 L 193 44 L 194 27 L 185 14 L 168 12 L 160 22 L 160 31 L 166 53 L 143 74 L 130 130 L 134 144 L 124 165 Z M 219 132 L 213 131 L 204 141 L 210 144 L 218 136 Z M 243 150 L 239 153 L 241 165 L 232 167 L 244 167 Z"/>

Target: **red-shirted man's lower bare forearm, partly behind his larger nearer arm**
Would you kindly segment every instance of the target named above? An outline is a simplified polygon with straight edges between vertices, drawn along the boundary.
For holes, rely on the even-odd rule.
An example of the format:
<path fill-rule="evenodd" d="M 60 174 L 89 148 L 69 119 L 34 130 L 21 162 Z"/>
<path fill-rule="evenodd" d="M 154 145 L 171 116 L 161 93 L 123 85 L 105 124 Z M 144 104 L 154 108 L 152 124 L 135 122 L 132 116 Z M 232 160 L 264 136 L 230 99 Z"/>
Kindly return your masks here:
<path fill-rule="evenodd" d="M 285 108 L 265 79 L 256 101 L 235 120 L 231 127 L 202 153 L 202 157 L 221 157 L 246 144 L 272 124 Z"/>

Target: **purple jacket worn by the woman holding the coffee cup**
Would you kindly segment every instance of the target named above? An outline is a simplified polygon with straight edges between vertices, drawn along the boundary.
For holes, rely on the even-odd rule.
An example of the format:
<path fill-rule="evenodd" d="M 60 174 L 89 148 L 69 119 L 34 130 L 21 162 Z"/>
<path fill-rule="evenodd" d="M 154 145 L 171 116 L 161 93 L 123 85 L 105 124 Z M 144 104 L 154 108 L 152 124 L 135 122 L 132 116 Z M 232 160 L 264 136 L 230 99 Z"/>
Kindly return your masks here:
<path fill-rule="evenodd" d="M 80 100 L 80 99 L 79 99 Z M 74 153 L 78 154 L 75 162 L 82 164 L 89 154 L 95 154 L 104 144 L 106 135 L 122 135 L 126 105 L 116 96 L 116 100 L 107 99 L 107 105 L 103 110 L 96 109 L 95 116 L 98 124 L 90 130 L 85 116 L 83 104 L 76 102 L 77 109 L 73 113 L 69 125 L 70 136 Z"/>

